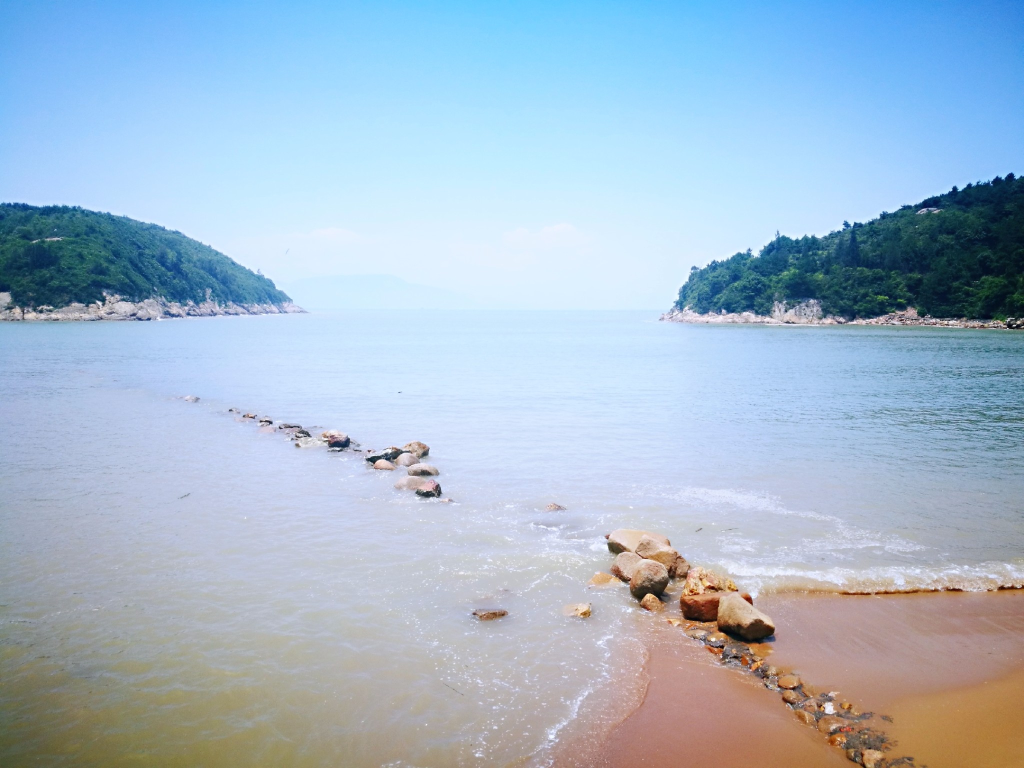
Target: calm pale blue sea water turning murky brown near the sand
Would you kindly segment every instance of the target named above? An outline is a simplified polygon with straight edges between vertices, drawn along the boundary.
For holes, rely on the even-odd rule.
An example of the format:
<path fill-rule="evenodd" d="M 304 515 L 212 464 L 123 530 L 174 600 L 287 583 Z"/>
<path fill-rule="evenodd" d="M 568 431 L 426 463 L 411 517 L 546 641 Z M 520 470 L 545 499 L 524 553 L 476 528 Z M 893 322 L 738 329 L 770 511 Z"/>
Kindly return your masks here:
<path fill-rule="evenodd" d="M 652 621 L 586 587 L 611 528 L 754 592 L 1022 584 L 1022 381 L 1013 332 L 0 325 L 0 763 L 544 764 Z M 423 440 L 457 503 L 229 407 Z"/>

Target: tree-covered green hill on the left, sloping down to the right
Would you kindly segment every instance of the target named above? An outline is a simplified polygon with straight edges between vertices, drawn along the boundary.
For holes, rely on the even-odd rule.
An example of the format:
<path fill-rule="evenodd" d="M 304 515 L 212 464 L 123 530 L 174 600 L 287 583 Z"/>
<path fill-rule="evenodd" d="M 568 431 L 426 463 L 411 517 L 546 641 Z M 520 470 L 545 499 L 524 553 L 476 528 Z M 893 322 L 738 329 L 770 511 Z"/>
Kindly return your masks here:
<path fill-rule="evenodd" d="M 271 281 L 181 232 L 68 206 L 0 204 L 0 292 L 17 306 L 67 306 L 119 294 L 197 304 L 289 301 Z M 209 292 L 209 294 L 207 293 Z"/>

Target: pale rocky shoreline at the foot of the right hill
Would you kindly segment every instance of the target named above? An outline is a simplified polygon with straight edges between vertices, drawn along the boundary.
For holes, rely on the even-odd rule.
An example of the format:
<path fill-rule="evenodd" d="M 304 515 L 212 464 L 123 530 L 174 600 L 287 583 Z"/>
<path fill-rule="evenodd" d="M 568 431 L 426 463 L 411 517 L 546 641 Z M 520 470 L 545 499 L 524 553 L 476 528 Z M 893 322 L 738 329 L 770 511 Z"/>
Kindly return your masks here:
<path fill-rule="evenodd" d="M 776 301 L 770 315 L 754 312 L 694 312 L 689 307 L 673 307 L 658 319 L 666 323 L 693 323 L 705 325 L 741 324 L 751 326 L 921 326 L 935 328 L 1011 329 L 1024 328 L 1024 318 L 1008 317 L 1001 321 L 969 319 L 968 317 L 924 317 L 908 307 L 902 312 L 891 312 L 878 317 L 848 321 L 845 317 L 825 315 L 816 299 L 795 305 Z"/>

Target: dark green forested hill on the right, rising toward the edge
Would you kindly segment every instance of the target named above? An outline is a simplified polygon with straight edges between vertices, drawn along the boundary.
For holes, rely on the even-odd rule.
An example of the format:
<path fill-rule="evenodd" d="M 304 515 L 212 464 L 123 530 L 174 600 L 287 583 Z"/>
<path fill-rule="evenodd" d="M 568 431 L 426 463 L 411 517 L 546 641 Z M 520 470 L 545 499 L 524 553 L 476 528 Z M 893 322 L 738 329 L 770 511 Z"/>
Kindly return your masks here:
<path fill-rule="evenodd" d="M 693 267 L 676 307 L 769 314 L 775 301 L 806 299 L 847 318 L 908 306 L 935 317 L 1024 314 L 1024 179 L 954 186 L 823 238 L 776 236 L 757 256 Z"/>

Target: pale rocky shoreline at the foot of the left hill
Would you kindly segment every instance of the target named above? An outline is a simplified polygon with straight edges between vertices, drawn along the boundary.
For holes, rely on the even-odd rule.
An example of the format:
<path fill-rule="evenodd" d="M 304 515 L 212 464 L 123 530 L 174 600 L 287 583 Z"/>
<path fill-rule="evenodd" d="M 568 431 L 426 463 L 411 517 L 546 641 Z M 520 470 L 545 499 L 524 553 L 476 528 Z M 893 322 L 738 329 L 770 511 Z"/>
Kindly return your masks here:
<path fill-rule="evenodd" d="M 206 301 L 180 304 L 162 297 L 144 301 L 125 301 L 117 294 L 92 304 L 69 304 L 63 307 L 18 307 L 9 293 L 0 293 L 0 321 L 154 321 L 172 317 L 212 317 L 240 314 L 298 314 L 306 310 L 291 301 L 283 304 L 219 304 L 207 291 Z"/>

